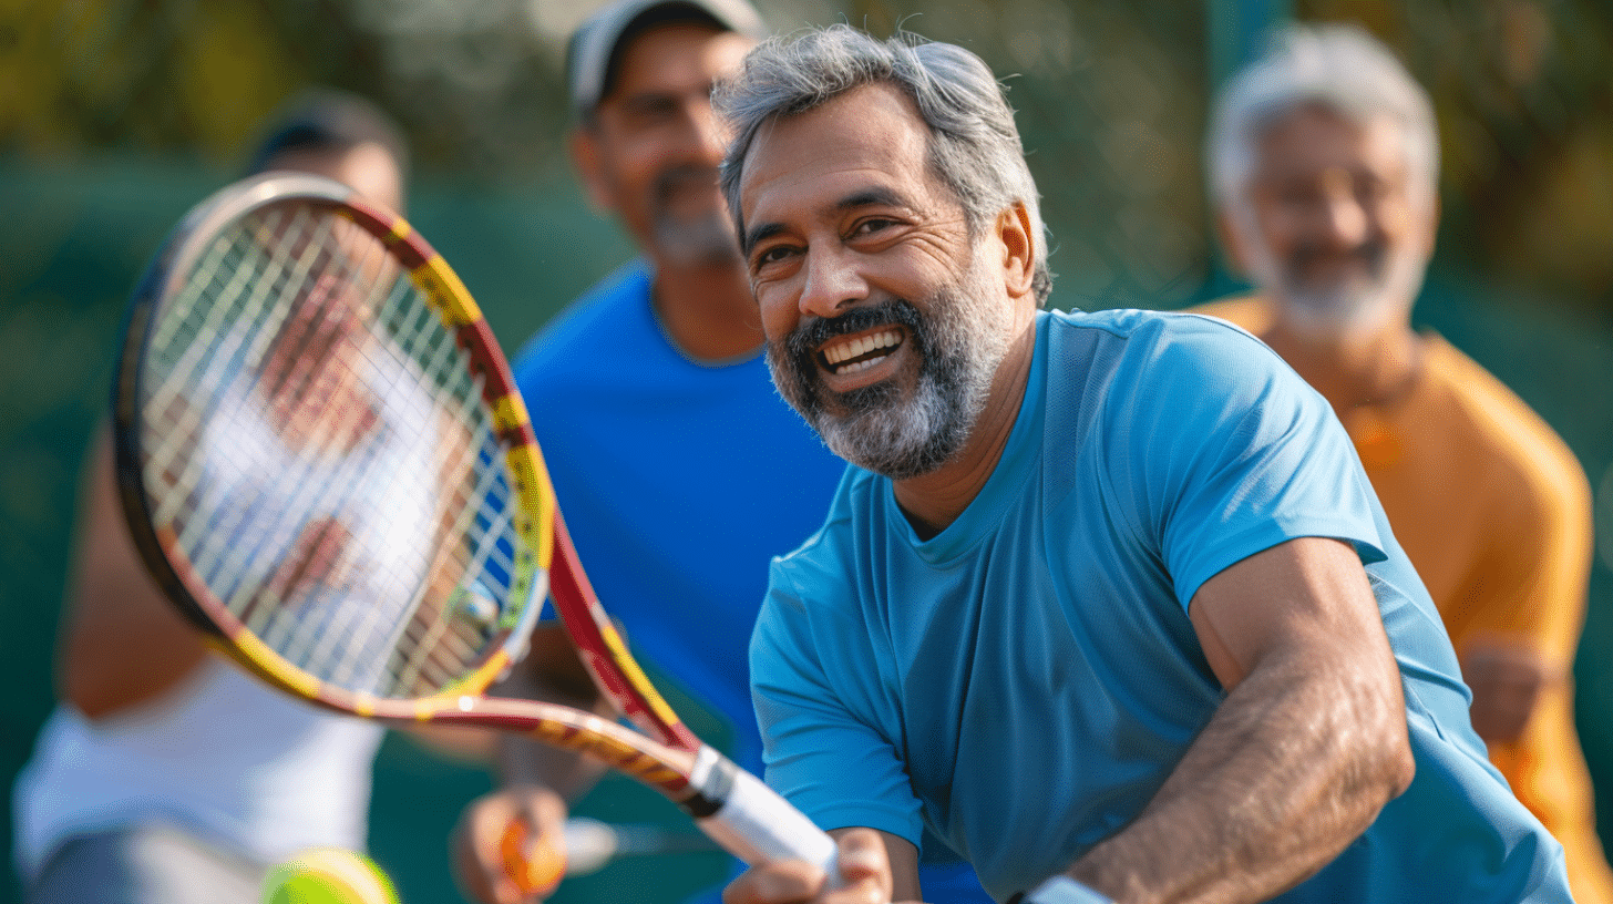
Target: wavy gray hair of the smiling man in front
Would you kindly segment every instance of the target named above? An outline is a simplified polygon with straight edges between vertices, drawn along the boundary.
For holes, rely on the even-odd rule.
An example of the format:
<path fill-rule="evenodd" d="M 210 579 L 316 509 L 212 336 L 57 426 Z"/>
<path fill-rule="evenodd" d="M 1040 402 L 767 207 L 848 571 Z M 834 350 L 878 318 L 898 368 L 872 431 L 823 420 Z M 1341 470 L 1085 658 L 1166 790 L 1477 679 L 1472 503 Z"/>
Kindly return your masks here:
<path fill-rule="evenodd" d="M 745 234 L 740 168 L 761 126 L 868 84 L 890 84 L 913 98 L 929 128 L 931 171 L 961 203 L 971 236 L 979 237 L 1015 202 L 1024 203 L 1036 245 L 1032 291 L 1037 303 L 1044 303 L 1053 287 L 1047 228 L 1013 108 L 979 56 L 910 32 L 876 40 L 852 26 L 834 24 L 789 39 L 771 37 L 718 86 L 718 115 L 734 128 L 734 142 L 723 160 L 723 194 L 739 234 Z"/>

